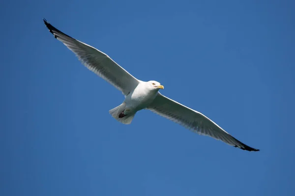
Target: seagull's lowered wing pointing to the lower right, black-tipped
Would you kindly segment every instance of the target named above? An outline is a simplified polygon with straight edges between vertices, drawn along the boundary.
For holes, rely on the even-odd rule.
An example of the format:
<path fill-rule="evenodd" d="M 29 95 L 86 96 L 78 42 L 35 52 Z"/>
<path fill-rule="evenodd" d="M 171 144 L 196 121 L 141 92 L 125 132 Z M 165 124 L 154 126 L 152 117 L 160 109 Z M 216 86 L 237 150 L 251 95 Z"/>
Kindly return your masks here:
<path fill-rule="evenodd" d="M 210 136 L 243 150 L 259 151 L 259 149 L 241 143 L 200 112 L 192 110 L 160 93 L 147 109 L 175 123 L 179 123 L 193 132 Z"/>

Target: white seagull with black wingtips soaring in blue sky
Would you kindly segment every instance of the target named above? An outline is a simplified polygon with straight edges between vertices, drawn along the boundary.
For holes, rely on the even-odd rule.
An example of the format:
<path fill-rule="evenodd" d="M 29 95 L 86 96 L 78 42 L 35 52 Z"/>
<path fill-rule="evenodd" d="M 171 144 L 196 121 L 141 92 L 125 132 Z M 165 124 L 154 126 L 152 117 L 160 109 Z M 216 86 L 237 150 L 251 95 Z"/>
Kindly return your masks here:
<path fill-rule="evenodd" d="M 159 82 L 135 78 L 107 54 L 66 35 L 45 19 L 43 21 L 54 37 L 72 50 L 85 67 L 122 92 L 125 100 L 109 111 L 118 122 L 130 124 L 136 112 L 148 109 L 200 135 L 210 136 L 242 150 L 259 151 L 241 143 L 202 113 L 163 96 L 159 90 L 164 86 Z"/>

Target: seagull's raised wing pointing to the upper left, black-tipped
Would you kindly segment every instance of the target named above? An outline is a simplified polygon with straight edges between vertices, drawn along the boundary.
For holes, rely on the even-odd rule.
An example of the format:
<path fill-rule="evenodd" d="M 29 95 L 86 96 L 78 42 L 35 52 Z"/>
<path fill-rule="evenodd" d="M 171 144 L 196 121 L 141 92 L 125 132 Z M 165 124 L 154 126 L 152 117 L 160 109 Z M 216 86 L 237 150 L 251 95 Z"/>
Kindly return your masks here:
<path fill-rule="evenodd" d="M 64 34 L 45 19 L 43 21 L 54 37 L 72 50 L 90 71 L 111 83 L 123 95 L 126 96 L 136 88 L 139 80 L 120 67 L 107 54 Z"/>

